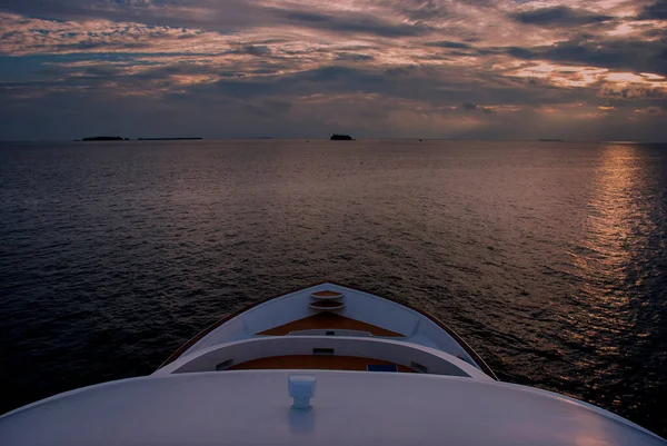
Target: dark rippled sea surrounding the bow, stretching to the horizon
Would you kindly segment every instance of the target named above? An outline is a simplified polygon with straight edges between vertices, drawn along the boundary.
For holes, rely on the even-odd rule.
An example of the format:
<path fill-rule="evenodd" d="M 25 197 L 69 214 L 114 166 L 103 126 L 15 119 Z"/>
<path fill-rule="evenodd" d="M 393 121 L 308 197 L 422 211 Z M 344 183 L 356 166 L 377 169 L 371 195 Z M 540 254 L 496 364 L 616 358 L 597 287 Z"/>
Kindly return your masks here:
<path fill-rule="evenodd" d="M 332 279 L 667 435 L 667 146 L 0 145 L 0 412 Z"/>

